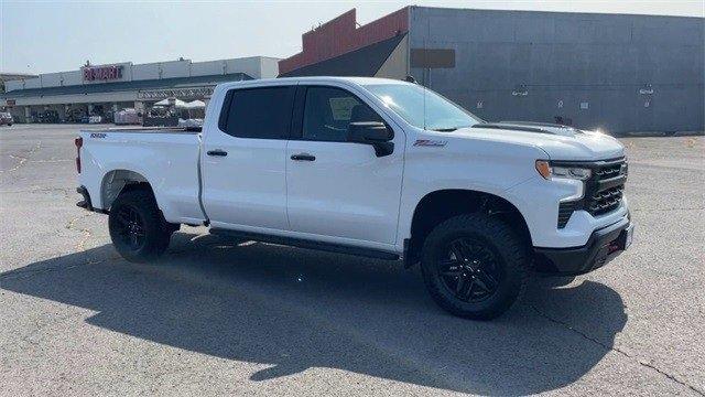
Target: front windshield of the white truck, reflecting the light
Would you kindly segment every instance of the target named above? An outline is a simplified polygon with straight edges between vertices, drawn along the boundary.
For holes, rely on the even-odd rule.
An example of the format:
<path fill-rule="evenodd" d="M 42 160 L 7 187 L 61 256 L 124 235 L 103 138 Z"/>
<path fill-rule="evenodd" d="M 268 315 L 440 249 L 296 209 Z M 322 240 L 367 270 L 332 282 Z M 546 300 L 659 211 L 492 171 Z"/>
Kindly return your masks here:
<path fill-rule="evenodd" d="M 460 106 L 416 84 L 375 84 L 365 87 L 414 127 L 455 131 L 482 122 Z"/>

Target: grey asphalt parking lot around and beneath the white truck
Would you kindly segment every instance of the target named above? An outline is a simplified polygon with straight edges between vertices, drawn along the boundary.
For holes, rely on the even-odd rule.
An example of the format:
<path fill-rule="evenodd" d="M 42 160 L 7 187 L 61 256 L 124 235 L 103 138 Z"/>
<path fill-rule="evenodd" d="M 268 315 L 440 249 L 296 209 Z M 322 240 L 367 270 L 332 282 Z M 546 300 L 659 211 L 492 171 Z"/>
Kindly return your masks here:
<path fill-rule="evenodd" d="M 492 322 L 417 269 L 184 227 L 138 266 L 75 206 L 76 126 L 0 127 L 0 395 L 705 395 L 705 140 L 626 138 L 631 249 Z"/>

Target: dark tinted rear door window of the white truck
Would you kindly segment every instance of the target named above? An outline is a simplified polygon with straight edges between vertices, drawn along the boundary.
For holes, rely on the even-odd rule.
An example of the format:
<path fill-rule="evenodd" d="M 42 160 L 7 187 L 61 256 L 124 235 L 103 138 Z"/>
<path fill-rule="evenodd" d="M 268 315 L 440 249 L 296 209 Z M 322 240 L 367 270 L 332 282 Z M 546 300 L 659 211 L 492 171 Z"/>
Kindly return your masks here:
<path fill-rule="evenodd" d="M 294 93 L 294 87 L 234 90 L 224 131 L 239 138 L 286 139 Z"/>

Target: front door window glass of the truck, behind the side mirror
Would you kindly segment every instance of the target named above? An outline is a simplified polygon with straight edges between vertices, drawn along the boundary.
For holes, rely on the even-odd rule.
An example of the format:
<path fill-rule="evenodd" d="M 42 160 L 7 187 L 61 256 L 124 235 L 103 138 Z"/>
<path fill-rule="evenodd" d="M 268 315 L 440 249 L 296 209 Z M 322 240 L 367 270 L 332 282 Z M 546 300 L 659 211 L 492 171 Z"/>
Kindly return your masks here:
<path fill-rule="evenodd" d="M 310 87 L 304 107 L 303 139 L 344 142 L 350 122 L 383 121 L 355 95 L 339 88 Z"/>

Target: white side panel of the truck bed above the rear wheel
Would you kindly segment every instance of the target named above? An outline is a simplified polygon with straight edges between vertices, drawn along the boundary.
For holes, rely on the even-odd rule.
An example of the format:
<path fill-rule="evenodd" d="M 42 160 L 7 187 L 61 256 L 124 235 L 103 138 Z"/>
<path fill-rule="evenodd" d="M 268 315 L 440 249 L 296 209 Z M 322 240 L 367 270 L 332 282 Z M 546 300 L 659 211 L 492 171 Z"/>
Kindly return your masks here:
<path fill-rule="evenodd" d="M 80 131 L 79 182 L 93 206 L 108 210 L 112 191 L 121 189 L 126 172 L 149 181 L 166 221 L 196 224 L 205 221 L 200 187 L 197 130 L 178 127 L 117 127 Z M 123 171 L 121 171 L 123 170 Z M 116 193 L 117 194 L 117 193 Z"/>

